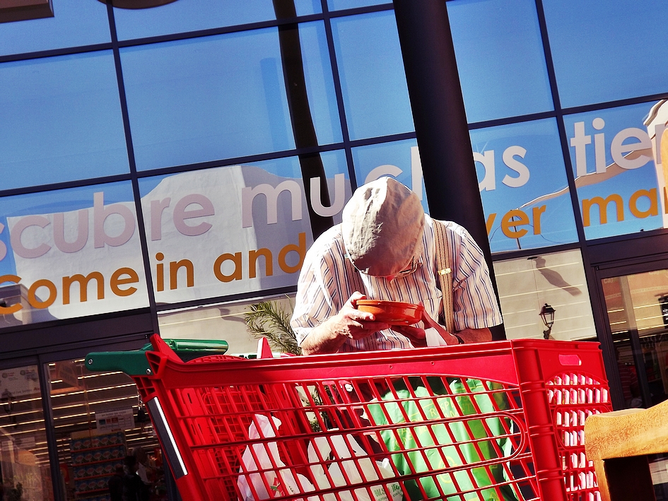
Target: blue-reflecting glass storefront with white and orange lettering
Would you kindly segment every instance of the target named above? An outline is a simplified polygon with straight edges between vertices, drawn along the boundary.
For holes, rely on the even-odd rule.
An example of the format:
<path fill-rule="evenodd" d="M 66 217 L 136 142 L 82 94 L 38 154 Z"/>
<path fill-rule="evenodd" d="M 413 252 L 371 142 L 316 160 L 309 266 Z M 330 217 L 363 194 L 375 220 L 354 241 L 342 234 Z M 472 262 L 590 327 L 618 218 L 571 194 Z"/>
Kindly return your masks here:
<path fill-rule="evenodd" d="M 306 249 L 356 187 L 391 175 L 429 211 L 391 3 L 52 4 L 53 17 L 0 23 L 0 336 L 43 326 L 1 367 L 52 372 L 35 357 L 83 322 L 102 330 L 57 337 L 77 356 L 105 340 L 139 348 L 139 330 L 103 326 L 143 313 L 163 335 L 247 353 L 243 307 L 293 295 Z M 447 11 L 506 334 L 541 338 L 549 303 L 553 338 L 600 339 L 594 247 L 668 224 L 667 61 L 654 48 L 668 4 Z M 35 444 L 20 447 L 56 483 L 43 498 L 63 500 L 43 467 L 59 415 L 34 398 Z M 9 482 L 25 468 L 6 457 L 28 456 L 6 447 Z"/>

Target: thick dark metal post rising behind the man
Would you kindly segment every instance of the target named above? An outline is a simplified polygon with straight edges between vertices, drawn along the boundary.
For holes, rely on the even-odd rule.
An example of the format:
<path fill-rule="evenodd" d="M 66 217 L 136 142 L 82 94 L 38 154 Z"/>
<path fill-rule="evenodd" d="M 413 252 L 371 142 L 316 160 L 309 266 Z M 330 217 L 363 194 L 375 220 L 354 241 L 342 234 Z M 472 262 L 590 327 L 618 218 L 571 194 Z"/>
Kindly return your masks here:
<path fill-rule="evenodd" d="M 431 216 L 466 228 L 497 292 L 445 0 L 394 0 Z M 492 330 L 505 339 L 503 325 Z"/>

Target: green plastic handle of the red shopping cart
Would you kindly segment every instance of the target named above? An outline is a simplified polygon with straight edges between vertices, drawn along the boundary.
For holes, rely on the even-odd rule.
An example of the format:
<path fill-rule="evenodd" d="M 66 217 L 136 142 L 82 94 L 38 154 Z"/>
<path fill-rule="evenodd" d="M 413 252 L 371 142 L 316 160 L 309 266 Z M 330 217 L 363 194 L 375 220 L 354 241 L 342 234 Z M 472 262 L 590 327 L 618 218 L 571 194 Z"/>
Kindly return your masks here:
<path fill-rule="evenodd" d="M 200 339 L 163 339 L 179 357 L 187 362 L 205 355 L 223 355 L 228 350 L 227 341 Z M 116 371 L 125 372 L 129 376 L 150 375 L 146 360 L 146 351 L 153 350 L 151 343 L 139 350 L 131 351 L 98 351 L 88 353 L 84 365 L 93 372 Z"/>

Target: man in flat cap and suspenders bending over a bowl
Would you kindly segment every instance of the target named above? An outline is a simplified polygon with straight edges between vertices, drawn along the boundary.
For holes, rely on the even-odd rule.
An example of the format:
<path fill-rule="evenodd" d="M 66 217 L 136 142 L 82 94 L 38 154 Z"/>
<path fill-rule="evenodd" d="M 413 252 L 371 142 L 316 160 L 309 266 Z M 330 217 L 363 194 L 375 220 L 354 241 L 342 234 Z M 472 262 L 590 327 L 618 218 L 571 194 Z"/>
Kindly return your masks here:
<path fill-rule="evenodd" d="M 344 207 L 343 220 L 313 243 L 298 281 L 291 325 L 303 353 L 426 346 L 425 327 L 447 344 L 491 340 L 502 322 L 483 254 L 452 222 L 445 235 L 452 257 L 455 332 L 432 319 L 443 312 L 434 225 L 418 196 L 391 177 L 364 184 Z M 423 326 L 389 326 L 357 310 L 361 299 L 422 303 Z"/>

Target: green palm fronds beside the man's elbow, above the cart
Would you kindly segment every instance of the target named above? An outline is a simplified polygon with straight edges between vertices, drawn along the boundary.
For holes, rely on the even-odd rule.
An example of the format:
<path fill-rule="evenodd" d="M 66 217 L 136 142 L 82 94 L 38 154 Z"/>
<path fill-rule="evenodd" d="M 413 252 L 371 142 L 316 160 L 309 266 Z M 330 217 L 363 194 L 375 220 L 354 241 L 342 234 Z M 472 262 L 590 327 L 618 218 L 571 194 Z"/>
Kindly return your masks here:
<path fill-rule="evenodd" d="M 291 316 L 278 301 L 258 302 L 244 313 L 246 328 L 254 338 L 266 338 L 272 350 L 301 355 L 297 336 L 290 326 Z"/>

